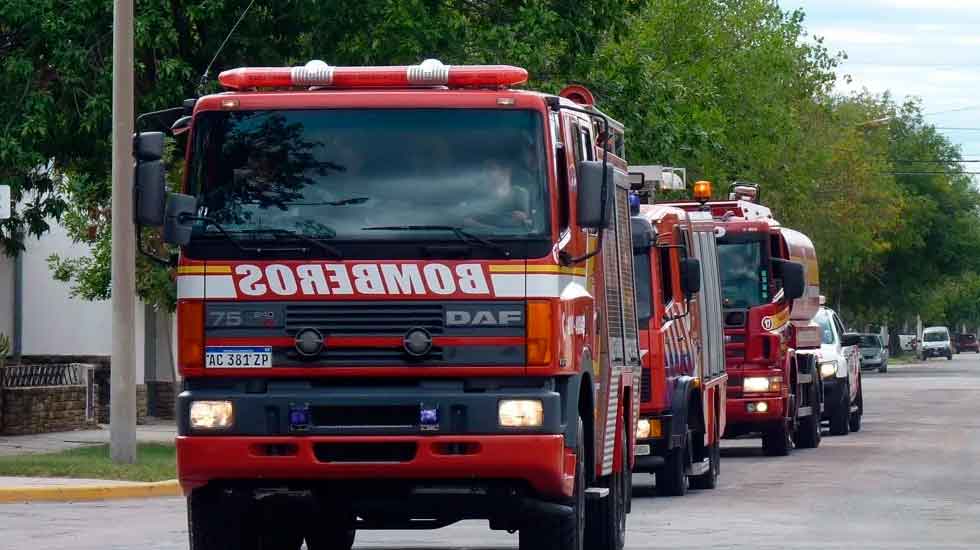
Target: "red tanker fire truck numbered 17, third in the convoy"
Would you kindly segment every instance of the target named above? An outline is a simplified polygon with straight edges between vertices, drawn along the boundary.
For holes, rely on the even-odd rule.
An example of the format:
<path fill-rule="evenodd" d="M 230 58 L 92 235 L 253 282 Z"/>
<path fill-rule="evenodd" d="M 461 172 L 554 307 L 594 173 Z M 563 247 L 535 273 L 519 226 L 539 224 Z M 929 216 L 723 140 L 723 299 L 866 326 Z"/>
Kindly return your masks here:
<path fill-rule="evenodd" d="M 822 388 L 817 374 L 820 282 L 813 243 L 757 203 L 759 186 L 736 183 L 729 200 L 677 206 L 714 218 L 724 299 L 728 371 L 726 437 L 758 434 L 767 455 L 820 444 Z"/>

